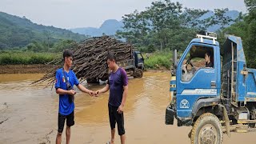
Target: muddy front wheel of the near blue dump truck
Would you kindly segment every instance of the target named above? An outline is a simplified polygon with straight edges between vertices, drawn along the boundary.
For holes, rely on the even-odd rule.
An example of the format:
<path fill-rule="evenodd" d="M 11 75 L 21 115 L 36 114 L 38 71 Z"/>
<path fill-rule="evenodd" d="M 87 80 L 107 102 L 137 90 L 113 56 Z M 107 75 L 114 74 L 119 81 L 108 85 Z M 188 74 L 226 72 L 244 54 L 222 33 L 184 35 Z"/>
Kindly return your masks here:
<path fill-rule="evenodd" d="M 192 144 L 220 144 L 222 139 L 222 126 L 214 114 L 202 114 L 194 123 L 191 132 Z"/>

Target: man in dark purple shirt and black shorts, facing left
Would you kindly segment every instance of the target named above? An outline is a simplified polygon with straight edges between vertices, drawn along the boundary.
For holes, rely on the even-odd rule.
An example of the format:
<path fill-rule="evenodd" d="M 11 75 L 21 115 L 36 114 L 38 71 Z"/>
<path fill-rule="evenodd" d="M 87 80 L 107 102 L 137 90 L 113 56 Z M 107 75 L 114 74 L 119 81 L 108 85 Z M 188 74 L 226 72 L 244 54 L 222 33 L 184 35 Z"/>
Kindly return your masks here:
<path fill-rule="evenodd" d="M 96 91 L 96 96 L 100 93 L 105 93 L 110 90 L 109 98 L 109 118 L 111 127 L 111 140 L 107 142 L 109 144 L 114 143 L 115 123 L 118 123 L 118 134 L 121 138 L 121 143 L 126 141 L 123 108 L 126 103 L 127 91 L 128 91 L 128 78 L 126 70 L 120 68 L 116 63 L 114 54 L 109 54 L 107 57 L 107 65 L 111 70 L 110 77 L 104 88 Z"/>

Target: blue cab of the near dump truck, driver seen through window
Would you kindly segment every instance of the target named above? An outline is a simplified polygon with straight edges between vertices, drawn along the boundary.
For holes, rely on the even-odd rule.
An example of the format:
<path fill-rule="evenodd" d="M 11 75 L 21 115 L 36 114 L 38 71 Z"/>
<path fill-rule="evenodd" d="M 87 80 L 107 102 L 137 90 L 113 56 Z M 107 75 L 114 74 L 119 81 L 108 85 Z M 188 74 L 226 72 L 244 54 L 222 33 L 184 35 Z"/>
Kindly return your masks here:
<path fill-rule="evenodd" d="M 214 38 L 215 40 L 215 38 Z M 210 51 L 213 67 L 205 66 L 205 54 Z M 175 92 L 172 100 L 178 126 L 190 126 L 198 106 L 206 101 L 220 101 L 220 49 L 219 43 L 209 39 L 194 38 L 180 58 L 175 79 L 170 90 Z M 172 96 L 173 98 L 173 96 Z M 171 120 L 170 123 L 173 123 Z"/>

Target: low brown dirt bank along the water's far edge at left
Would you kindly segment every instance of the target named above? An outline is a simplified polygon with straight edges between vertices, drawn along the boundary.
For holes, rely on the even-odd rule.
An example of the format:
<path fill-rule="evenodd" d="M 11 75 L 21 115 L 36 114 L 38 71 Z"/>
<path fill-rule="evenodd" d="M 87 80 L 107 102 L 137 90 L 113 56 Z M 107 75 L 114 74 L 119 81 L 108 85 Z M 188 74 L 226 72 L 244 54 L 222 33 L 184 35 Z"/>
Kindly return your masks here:
<path fill-rule="evenodd" d="M 0 74 L 44 74 L 53 67 L 49 65 L 0 65 Z"/>

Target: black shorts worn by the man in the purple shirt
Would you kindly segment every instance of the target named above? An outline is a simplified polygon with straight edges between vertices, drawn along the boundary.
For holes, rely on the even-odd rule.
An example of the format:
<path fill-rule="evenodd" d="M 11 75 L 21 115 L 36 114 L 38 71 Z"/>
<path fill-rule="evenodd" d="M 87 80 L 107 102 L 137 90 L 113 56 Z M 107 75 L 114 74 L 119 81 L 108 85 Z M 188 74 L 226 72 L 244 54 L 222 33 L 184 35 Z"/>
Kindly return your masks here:
<path fill-rule="evenodd" d="M 111 106 L 109 104 L 109 118 L 110 118 L 110 127 L 111 130 L 115 128 L 115 123 L 118 123 L 118 134 L 126 134 L 125 127 L 124 127 L 124 118 L 123 113 L 118 114 L 118 106 Z"/>

